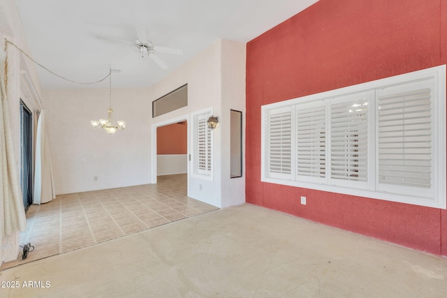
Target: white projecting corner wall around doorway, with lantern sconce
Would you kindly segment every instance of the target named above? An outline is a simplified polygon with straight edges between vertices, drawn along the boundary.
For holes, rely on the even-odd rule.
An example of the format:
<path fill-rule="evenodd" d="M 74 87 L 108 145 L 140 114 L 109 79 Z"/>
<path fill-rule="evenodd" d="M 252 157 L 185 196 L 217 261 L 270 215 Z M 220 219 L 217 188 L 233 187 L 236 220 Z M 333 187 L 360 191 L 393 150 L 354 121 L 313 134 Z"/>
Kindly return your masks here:
<path fill-rule="evenodd" d="M 191 198 L 217 207 L 245 202 L 244 179 L 230 179 L 230 109 L 245 112 L 245 47 L 244 43 L 218 40 L 149 91 L 152 101 L 188 84 L 188 106 L 152 119 L 152 126 L 161 126 L 170 119 L 208 107 L 219 117 L 219 125 L 213 131 L 213 179 L 192 176 L 189 165 L 188 184 Z M 192 135 L 191 129 L 193 126 L 189 125 L 189 135 Z M 193 154 L 191 146 L 189 142 L 189 154 Z M 155 149 L 152 144 L 152 154 Z"/>

